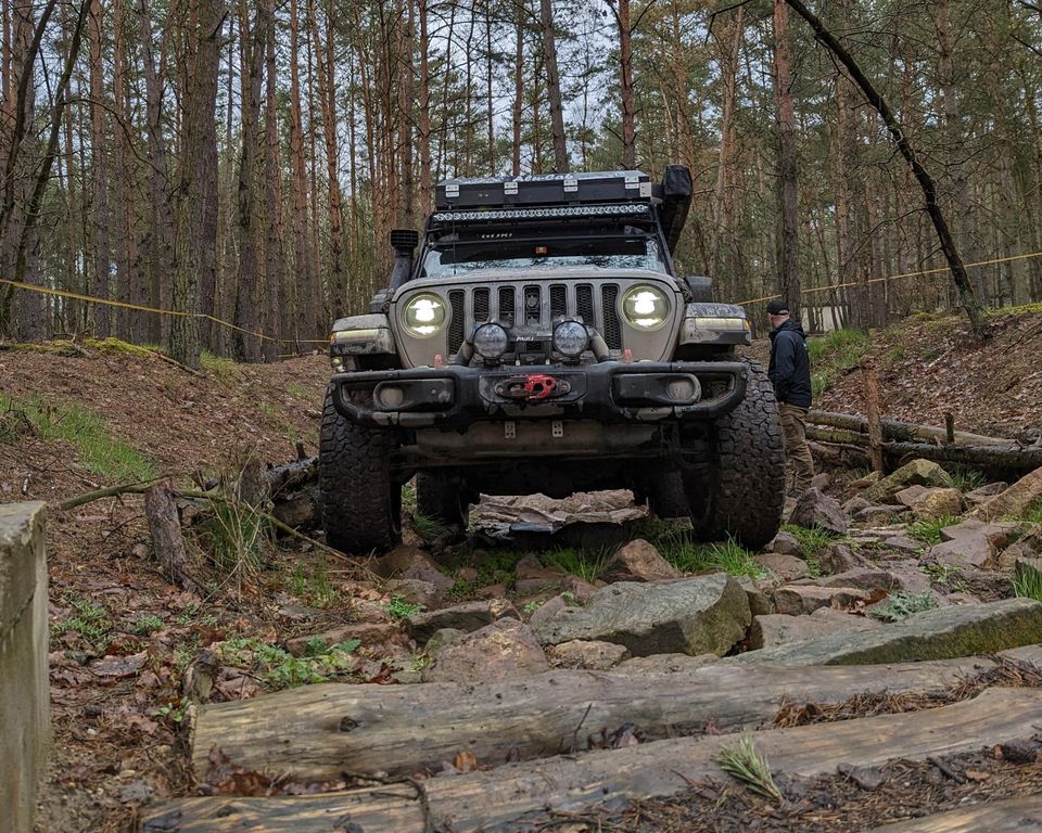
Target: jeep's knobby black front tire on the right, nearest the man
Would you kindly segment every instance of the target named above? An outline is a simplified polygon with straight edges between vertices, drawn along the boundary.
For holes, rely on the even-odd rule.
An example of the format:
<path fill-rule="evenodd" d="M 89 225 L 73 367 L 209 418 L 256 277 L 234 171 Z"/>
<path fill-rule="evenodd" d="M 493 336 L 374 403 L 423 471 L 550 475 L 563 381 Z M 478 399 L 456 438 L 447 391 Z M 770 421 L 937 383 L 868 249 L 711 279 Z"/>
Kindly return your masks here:
<path fill-rule="evenodd" d="M 709 491 L 688 497 L 699 537 L 720 540 L 730 536 L 742 547 L 759 549 L 782 525 L 785 447 L 771 380 L 759 362 L 742 361 L 749 366 L 746 396 L 730 413 L 716 420 Z M 699 521 L 694 510 L 703 499 L 707 512 Z"/>

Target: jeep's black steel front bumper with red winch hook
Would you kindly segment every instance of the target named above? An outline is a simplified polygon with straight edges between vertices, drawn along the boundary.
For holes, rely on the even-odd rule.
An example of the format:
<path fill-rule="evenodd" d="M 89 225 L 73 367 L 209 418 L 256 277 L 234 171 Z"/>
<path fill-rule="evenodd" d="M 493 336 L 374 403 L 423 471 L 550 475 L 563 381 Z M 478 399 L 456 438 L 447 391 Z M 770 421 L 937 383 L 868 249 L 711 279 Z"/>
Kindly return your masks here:
<path fill-rule="evenodd" d="M 335 374 L 332 384 L 336 410 L 351 422 L 372 427 L 465 428 L 490 419 L 712 420 L 741 401 L 746 373 L 746 364 L 739 361 L 602 361 L 575 367 L 448 366 L 347 372 Z M 525 380 L 538 396 L 546 377 L 552 380 L 549 395 L 518 396 Z M 681 398 L 673 401 L 675 394 Z"/>

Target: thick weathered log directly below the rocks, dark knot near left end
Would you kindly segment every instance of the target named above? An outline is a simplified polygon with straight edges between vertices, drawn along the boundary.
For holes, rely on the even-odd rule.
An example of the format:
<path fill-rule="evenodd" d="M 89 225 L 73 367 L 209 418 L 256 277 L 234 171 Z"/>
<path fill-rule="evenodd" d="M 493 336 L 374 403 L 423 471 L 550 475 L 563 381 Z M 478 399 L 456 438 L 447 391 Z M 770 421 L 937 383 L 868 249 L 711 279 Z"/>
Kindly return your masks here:
<path fill-rule="evenodd" d="M 301 781 L 352 772 L 441 769 L 458 752 L 483 765 L 587 748 L 588 736 L 624 722 L 649 740 L 758 727 L 783 703 L 838 703 L 863 693 L 942 692 L 990 670 L 983 658 L 821 668 L 702 666 L 645 677 L 559 670 L 488 683 L 307 685 L 203 708 L 193 766 L 200 781 L 218 747 L 238 766 L 292 772 Z M 727 692 L 722 697 L 721 692 Z"/>

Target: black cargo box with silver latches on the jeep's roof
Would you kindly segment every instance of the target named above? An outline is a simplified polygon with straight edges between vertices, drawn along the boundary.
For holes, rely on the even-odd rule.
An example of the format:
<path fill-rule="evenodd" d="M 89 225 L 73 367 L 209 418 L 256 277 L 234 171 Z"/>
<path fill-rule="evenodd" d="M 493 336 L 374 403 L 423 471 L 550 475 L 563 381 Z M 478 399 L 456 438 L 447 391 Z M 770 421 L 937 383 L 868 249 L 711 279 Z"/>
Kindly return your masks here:
<path fill-rule="evenodd" d="M 503 208 L 511 205 L 650 202 L 651 180 L 639 170 L 541 174 L 526 177 L 448 179 L 435 189 L 434 205 L 446 208 Z"/>

